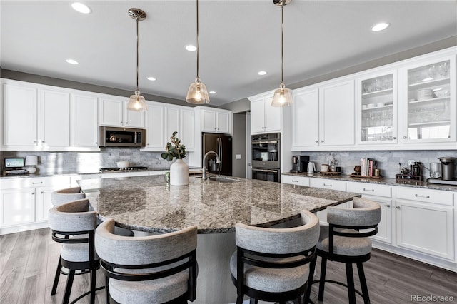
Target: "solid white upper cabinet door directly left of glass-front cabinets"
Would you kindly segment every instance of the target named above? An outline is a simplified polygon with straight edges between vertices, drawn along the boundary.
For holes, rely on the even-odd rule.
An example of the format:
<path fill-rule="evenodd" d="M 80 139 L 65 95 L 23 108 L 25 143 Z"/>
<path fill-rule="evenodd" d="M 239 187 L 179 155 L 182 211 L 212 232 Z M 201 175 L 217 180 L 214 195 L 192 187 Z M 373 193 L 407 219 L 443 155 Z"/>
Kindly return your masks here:
<path fill-rule="evenodd" d="M 319 87 L 321 146 L 355 144 L 354 106 L 353 79 L 332 81 Z"/>

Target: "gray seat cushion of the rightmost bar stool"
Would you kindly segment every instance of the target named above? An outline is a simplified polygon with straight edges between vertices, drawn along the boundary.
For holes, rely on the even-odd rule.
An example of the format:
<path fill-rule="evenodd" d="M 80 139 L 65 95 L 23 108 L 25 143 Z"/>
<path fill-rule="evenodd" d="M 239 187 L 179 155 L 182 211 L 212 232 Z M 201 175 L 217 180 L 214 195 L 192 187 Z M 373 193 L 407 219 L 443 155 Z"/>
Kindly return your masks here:
<path fill-rule="evenodd" d="M 354 230 L 342 229 L 346 233 L 357 232 Z M 321 235 L 316 245 L 318 250 L 328 252 L 328 226 L 321 226 Z M 333 253 L 345 256 L 360 256 L 371 253 L 370 238 L 344 238 L 338 235 L 333 236 Z"/>

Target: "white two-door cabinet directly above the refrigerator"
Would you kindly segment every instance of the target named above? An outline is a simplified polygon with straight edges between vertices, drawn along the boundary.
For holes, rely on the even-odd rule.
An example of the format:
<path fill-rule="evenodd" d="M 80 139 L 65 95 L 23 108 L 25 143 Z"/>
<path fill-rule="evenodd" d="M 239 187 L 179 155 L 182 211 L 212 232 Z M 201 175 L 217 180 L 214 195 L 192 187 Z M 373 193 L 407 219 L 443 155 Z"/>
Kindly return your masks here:
<path fill-rule="evenodd" d="M 231 133 L 231 111 L 199 107 L 201 131 Z"/>

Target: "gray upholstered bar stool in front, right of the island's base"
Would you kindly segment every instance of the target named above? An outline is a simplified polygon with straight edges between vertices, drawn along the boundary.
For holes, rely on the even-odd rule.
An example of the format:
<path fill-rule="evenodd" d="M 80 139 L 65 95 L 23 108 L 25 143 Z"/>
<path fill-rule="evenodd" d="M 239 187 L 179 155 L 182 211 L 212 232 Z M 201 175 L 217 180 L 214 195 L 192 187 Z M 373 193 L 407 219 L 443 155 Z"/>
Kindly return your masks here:
<path fill-rule="evenodd" d="M 308 302 L 314 272 L 308 263 L 314 260 L 319 221 L 313 213 L 301 211 L 301 222 L 302 226 L 293 228 L 236 224 L 237 250 L 231 256 L 230 270 L 237 304 L 244 295 L 251 303 L 301 303 L 303 295 L 304 303 Z"/>

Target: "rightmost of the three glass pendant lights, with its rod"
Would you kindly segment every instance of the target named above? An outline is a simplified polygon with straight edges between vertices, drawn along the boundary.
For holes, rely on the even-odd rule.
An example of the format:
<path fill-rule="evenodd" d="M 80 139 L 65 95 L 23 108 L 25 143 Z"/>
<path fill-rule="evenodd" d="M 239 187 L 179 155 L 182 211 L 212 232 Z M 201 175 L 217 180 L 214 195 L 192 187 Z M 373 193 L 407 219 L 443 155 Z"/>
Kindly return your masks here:
<path fill-rule="evenodd" d="M 284 85 L 284 6 L 292 0 L 273 0 L 273 4 L 281 6 L 281 84 L 274 91 L 271 106 L 291 106 L 293 103 L 292 91 Z"/>

